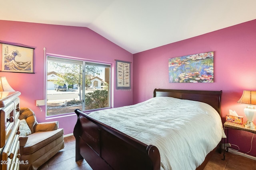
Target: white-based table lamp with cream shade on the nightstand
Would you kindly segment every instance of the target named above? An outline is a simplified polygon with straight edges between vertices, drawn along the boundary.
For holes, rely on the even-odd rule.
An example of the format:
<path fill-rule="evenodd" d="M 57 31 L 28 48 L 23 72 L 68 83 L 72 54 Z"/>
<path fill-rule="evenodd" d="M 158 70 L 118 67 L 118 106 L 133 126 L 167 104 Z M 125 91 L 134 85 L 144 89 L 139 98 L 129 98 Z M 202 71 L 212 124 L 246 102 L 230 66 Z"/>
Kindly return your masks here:
<path fill-rule="evenodd" d="M 256 109 L 252 105 L 256 105 L 256 91 L 244 90 L 242 97 L 238 100 L 238 103 L 249 104 L 244 108 L 244 113 L 247 118 L 247 122 L 244 125 L 249 128 L 256 128 L 253 120 L 256 117 Z"/>

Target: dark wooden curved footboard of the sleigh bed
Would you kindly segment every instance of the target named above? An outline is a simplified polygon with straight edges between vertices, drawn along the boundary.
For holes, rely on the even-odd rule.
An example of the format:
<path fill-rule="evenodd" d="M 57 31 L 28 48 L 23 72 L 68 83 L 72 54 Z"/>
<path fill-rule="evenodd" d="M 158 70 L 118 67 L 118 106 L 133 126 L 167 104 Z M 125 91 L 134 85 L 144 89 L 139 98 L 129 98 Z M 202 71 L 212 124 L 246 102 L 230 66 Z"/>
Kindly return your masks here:
<path fill-rule="evenodd" d="M 75 113 L 76 161 L 84 158 L 94 170 L 160 170 L 160 154 L 155 146 L 141 143 L 79 109 Z"/>

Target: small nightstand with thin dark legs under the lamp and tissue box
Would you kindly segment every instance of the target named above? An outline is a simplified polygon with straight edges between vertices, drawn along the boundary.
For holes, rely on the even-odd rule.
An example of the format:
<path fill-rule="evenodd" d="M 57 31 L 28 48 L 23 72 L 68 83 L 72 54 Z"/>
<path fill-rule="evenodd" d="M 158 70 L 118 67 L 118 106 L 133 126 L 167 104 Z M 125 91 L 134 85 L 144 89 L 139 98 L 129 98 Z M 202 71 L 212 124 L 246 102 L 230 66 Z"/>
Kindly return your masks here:
<path fill-rule="evenodd" d="M 244 127 L 244 125 L 241 125 L 241 124 L 238 124 L 238 123 L 232 123 L 232 122 L 230 122 L 230 121 L 226 121 L 225 123 L 224 123 L 224 129 L 227 129 L 227 138 L 226 138 L 226 140 L 227 140 L 227 144 L 229 144 L 228 143 L 228 130 L 229 129 L 236 129 L 236 130 L 241 130 L 241 131 L 248 131 L 248 132 L 251 132 L 251 133 L 255 133 L 256 134 L 256 129 L 250 129 L 250 128 L 248 128 L 248 127 Z M 225 143 L 225 142 L 224 142 Z M 228 147 L 230 147 L 230 146 L 228 146 Z M 228 151 L 228 147 L 226 147 L 227 149 L 226 149 L 226 151 Z M 225 145 L 224 145 L 224 153 L 223 153 L 223 159 L 222 160 L 225 160 Z"/>

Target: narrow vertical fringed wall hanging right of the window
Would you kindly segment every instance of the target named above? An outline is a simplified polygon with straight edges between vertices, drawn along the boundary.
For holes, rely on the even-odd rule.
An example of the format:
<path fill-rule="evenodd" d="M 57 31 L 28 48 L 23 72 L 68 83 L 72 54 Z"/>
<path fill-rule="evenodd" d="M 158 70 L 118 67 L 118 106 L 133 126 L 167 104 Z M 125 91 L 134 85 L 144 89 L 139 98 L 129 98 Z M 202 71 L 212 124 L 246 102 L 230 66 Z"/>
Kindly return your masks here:
<path fill-rule="evenodd" d="M 131 90 L 130 62 L 116 60 L 116 90 Z"/>

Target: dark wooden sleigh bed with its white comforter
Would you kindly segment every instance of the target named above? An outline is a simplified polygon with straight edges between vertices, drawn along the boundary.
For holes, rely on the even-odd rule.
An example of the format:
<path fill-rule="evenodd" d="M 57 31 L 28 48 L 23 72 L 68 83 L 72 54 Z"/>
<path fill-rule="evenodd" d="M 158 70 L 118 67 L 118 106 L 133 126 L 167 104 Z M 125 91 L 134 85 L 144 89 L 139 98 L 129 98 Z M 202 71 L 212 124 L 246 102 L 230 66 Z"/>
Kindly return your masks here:
<path fill-rule="evenodd" d="M 92 167 L 94 170 L 108 170 L 108 169 L 115 169 L 115 170 L 130 170 L 130 169 L 147 169 L 147 170 L 160 170 L 160 169 L 179 169 L 179 164 L 182 164 L 183 169 L 203 169 L 204 166 L 207 164 L 208 160 L 210 159 L 211 155 L 215 152 L 215 150 L 218 148 L 219 143 L 221 141 L 221 138 L 223 137 L 223 128 L 221 123 L 221 95 L 222 91 L 200 91 L 200 90 L 165 90 L 165 89 L 155 89 L 153 93 L 152 99 L 142 102 L 140 104 L 136 104 L 133 106 L 124 106 L 119 108 L 113 108 L 113 109 L 105 109 L 102 111 L 94 111 L 87 115 L 86 113 L 83 113 L 79 109 L 75 110 L 75 113 L 78 116 L 77 123 L 74 127 L 74 136 L 76 138 L 76 161 L 85 159 L 88 164 Z M 182 99 L 182 100 L 180 100 Z M 198 101 L 198 102 L 194 102 Z M 196 106 L 195 104 L 203 105 L 203 108 L 206 107 L 207 109 L 208 105 L 210 105 L 210 109 L 213 109 L 218 115 L 218 120 L 213 123 L 213 125 L 210 125 L 210 127 L 214 127 L 214 130 L 209 130 L 206 133 L 209 133 L 210 131 L 214 132 L 214 135 L 212 137 L 206 137 L 206 139 L 200 138 L 201 132 L 198 135 L 195 133 L 194 136 L 198 138 L 198 141 L 196 141 L 195 145 L 190 145 L 190 149 L 194 149 L 190 151 L 188 154 L 187 151 L 184 151 L 183 148 L 187 145 L 188 141 L 183 142 L 183 135 L 177 135 L 176 131 L 172 131 L 171 137 L 173 140 L 179 139 L 180 141 L 178 143 L 174 143 L 167 148 L 170 149 L 170 153 L 166 154 L 165 148 L 163 148 L 162 145 L 166 145 L 169 143 L 172 143 L 172 141 L 166 141 L 168 138 L 164 135 L 165 131 L 169 131 L 170 129 L 163 130 L 162 132 L 159 131 L 158 127 L 163 126 L 163 129 L 166 129 L 166 125 L 162 124 L 162 121 L 160 123 L 156 123 L 157 119 L 160 120 L 166 120 L 170 121 L 169 124 L 174 124 L 174 127 L 179 126 L 179 123 L 182 121 L 185 121 L 186 127 L 188 126 L 189 129 L 190 126 L 199 126 L 198 119 L 201 119 L 203 116 L 198 117 L 197 119 L 194 119 L 194 124 L 188 124 L 187 119 L 190 119 L 190 117 L 185 118 L 185 120 L 180 120 L 180 117 L 186 117 L 184 113 L 181 113 L 180 110 L 184 110 L 178 108 L 178 115 L 176 113 L 176 117 L 172 115 L 172 118 L 165 119 L 166 115 L 164 113 L 166 111 L 162 111 L 166 104 L 166 102 L 170 103 L 177 103 L 182 104 L 181 106 L 188 105 L 188 106 Z M 183 102 L 188 102 L 183 104 Z M 201 103 L 203 102 L 203 103 Z M 152 104 L 158 103 L 156 106 L 153 106 Z M 142 110 L 138 109 L 140 107 L 137 106 L 146 106 L 148 107 L 148 110 L 145 108 L 142 108 Z M 190 108 L 192 108 L 190 106 Z M 132 107 L 132 108 L 130 108 Z M 138 119 L 142 120 L 142 123 L 145 125 L 145 129 L 143 127 L 137 128 L 137 124 L 133 124 L 136 116 L 132 117 L 126 117 L 126 115 L 137 115 L 137 113 L 134 113 L 134 108 L 138 110 Z M 124 116 L 121 118 L 122 121 L 118 120 L 116 121 L 119 125 L 127 125 L 130 124 L 129 127 L 120 127 L 119 125 L 112 124 L 110 121 L 111 119 L 114 119 L 118 117 L 118 110 L 124 112 Z M 171 108 L 168 108 L 170 112 Z M 200 108 L 201 109 L 201 108 Z M 153 113 L 150 113 L 153 110 Z M 172 112 L 175 109 L 173 109 Z M 189 112 L 190 109 L 187 109 L 186 112 Z M 161 112 L 158 112 L 161 111 Z M 106 115 L 111 115 L 112 113 L 115 113 L 116 115 L 112 116 L 111 118 L 106 117 Z M 140 117 L 143 112 L 143 114 L 147 114 L 146 118 Z M 169 113 L 166 112 L 166 113 Z M 202 111 L 203 113 L 210 112 Z M 160 113 L 160 114 L 155 114 Z M 100 114 L 103 114 L 102 116 L 99 116 Z M 213 115 L 214 115 L 213 114 Z M 150 115 L 154 115 L 153 117 L 150 117 Z M 161 117 L 162 118 L 159 118 Z M 197 116 L 197 115 L 195 115 Z M 212 115 L 211 115 L 212 116 Z M 214 115 L 216 117 L 216 115 Z M 105 117 L 104 119 L 101 117 Z M 206 115 L 206 119 L 210 119 L 210 122 L 212 121 L 212 117 L 209 117 L 209 115 Z M 214 118 L 215 119 L 215 118 Z M 150 125 L 151 122 L 154 122 L 154 126 Z M 175 124 L 176 123 L 176 124 Z M 218 126 L 215 127 L 215 124 L 218 124 Z M 182 123 L 181 123 L 182 125 Z M 182 125 L 184 126 L 184 124 Z M 131 132 L 127 129 L 131 129 Z M 135 129 L 135 130 L 134 130 Z M 143 129 L 141 132 L 138 130 Z M 201 127 L 202 131 L 206 131 L 205 127 Z M 216 129 L 222 129 L 222 131 L 218 131 L 215 134 Z M 148 131 L 155 131 L 157 134 L 159 134 L 160 137 L 150 137 L 146 132 Z M 188 131 L 183 131 L 182 134 L 185 134 Z M 151 133 L 151 132 L 150 132 Z M 189 135 L 192 132 L 186 133 L 186 135 Z M 220 134 L 222 133 L 222 134 Z M 203 133 L 202 133 L 203 134 Z M 185 136 L 185 135 L 184 135 Z M 147 139 L 144 139 L 147 138 Z M 160 143 L 154 141 L 153 139 L 156 139 L 156 141 L 160 141 Z M 194 141 L 194 139 L 191 139 Z M 214 141 L 213 141 L 214 140 Z M 162 141 L 164 141 L 162 143 Z M 204 146 L 205 141 L 210 141 L 211 145 L 214 146 Z M 151 143 L 152 142 L 152 143 Z M 164 146 L 166 147 L 166 146 Z M 197 150 L 202 150 L 202 148 L 207 148 L 207 150 L 203 150 L 204 154 L 197 154 Z M 175 149 L 175 153 L 172 149 Z M 173 152 L 173 154 L 172 154 Z M 160 155 L 161 153 L 161 155 Z M 173 156 L 174 155 L 174 156 Z M 191 163 L 187 163 L 187 160 L 192 158 L 198 159 L 200 157 L 200 160 L 195 160 L 195 164 L 190 165 Z M 178 162 L 177 162 L 178 160 Z M 167 161 L 167 163 L 166 163 Z M 182 162 L 184 161 L 184 162 Z M 188 165 L 185 165 L 188 164 Z"/>

